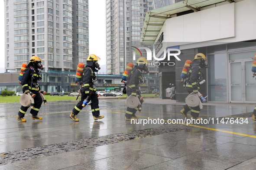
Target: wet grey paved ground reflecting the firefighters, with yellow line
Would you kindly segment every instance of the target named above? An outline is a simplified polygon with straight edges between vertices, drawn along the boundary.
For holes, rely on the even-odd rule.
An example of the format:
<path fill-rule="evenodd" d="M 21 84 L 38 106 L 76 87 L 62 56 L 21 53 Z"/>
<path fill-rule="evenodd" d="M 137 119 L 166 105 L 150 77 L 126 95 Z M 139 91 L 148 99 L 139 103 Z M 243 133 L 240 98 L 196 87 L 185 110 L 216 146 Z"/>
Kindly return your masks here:
<path fill-rule="evenodd" d="M 171 104 L 172 102 L 172 104 Z M 38 148 L 141 129 L 170 128 L 168 119 L 184 120 L 182 104 L 161 99 L 145 99 L 140 120 L 165 120 L 163 124 L 126 123 L 125 100 L 100 100 L 100 114 L 105 118 L 94 121 L 89 106 L 78 114 L 79 122 L 69 118 L 75 101 L 49 102 L 41 107 L 43 120 L 25 116 L 26 123 L 16 120 L 19 103 L 0 104 L 0 153 Z M 256 122 L 246 115 L 254 104 L 204 104 L 204 120 L 218 117 L 235 122 L 194 124 L 188 129 L 145 136 L 110 145 L 59 152 L 52 156 L 39 155 L 25 161 L 13 161 L 0 169 L 255 169 Z M 144 122 L 145 123 L 145 122 Z M 179 125 L 187 126 L 187 125 Z M 97 142 L 97 141 L 96 141 Z M 27 156 L 27 155 L 25 155 Z M 25 157 L 24 156 L 24 157 Z"/>

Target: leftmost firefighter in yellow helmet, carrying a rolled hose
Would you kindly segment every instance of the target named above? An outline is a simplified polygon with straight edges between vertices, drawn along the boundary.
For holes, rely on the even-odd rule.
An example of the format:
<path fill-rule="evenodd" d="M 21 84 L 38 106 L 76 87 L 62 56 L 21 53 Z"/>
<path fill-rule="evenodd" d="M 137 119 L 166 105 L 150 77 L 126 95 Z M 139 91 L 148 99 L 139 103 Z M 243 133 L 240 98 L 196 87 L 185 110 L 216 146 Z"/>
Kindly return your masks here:
<path fill-rule="evenodd" d="M 42 104 L 42 98 L 39 94 L 40 87 L 37 83 L 39 80 L 42 79 L 41 72 L 39 71 L 39 69 L 43 69 L 42 59 L 37 56 L 31 57 L 30 63 L 25 69 L 21 79 L 23 93 L 32 92 L 33 94 L 36 94 L 36 96 L 33 98 L 35 102 L 34 108 L 30 110 L 30 113 L 32 114 L 32 119 L 35 119 L 35 120 L 42 120 L 42 117 L 37 116 Z M 20 107 L 17 120 L 21 122 L 26 122 L 26 119 L 24 119 L 23 117 L 26 111 L 28 110 L 28 108 L 29 107 L 24 107 L 24 106 Z"/>

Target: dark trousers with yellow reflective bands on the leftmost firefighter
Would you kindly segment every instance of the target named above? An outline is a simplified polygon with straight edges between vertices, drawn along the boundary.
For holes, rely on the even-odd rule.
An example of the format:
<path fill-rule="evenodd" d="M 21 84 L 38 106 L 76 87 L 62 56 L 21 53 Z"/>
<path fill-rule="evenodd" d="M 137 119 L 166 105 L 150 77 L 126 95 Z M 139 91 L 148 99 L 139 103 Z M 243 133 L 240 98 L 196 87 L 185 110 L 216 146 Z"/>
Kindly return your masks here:
<path fill-rule="evenodd" d="M 34 104 L 34 108 L 32 108 L 32 109 L 30 110 L 30 113 L 31 113 L 33 116 L 36 116 L 36 115 L 38 114 L 38 112 L 39 112 L 40 107 L 41 107 L 42 98 L 41 98 L 39 92 L 38 92 L 38 93 L 34 93 L 34 94 L 36 94 L 36 97 L 33 98 L 35 104 Z M 26 111 L 28 110 L 28 108 L 29 108 L 29 107 L 21 106 L 20 109 L 19 109 L 18 115 L 19 115 L 20 117 L 24 117 Z"/>

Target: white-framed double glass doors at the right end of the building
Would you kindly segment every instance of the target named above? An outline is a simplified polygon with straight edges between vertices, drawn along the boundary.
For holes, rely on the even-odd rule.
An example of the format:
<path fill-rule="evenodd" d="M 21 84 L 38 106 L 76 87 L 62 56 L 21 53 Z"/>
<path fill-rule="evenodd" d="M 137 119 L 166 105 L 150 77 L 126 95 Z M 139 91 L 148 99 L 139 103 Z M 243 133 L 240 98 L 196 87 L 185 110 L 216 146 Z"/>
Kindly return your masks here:
<path fill-rule="evenodd" d="M 229 102 L 255 103 L 256 80 L 252 59 L 229 60 Z"/>

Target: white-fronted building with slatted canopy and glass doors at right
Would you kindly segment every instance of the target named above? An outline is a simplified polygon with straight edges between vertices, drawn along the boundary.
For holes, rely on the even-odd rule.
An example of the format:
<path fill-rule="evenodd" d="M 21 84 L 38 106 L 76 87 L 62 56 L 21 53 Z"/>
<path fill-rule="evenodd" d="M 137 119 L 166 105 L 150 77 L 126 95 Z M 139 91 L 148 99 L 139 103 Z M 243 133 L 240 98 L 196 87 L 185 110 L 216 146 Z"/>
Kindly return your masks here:
<path fill-rule="evenodd" d="M 159 67 L 160 71 L 163 70 L 159 71 L 159 82 L 168 79 L 168 76 L 161 76 L 172 74 L 177 88 L 177 101 L 185 101 L 188 94 L 180 77 L 184 63 L 193 60 L 195 54 L 204 53 L 209 68 L 203 71 L 206 83 L 202 85 L 201 91 L 204 96 L 208 95 L 208 101 L 255 103 L 256 80 L 252 77 L 251 68 L 256 55 L 256 1 L 210 0 L 208 4 L 195 4 L 195 0 L 188 0 L 189 4 L 189 7 L 182 2 L 165 6 L 164 9 L 151 11 L 145 19 L 144 28 L 149 23 L 162 23 L 154 27 L 158 30 L 155 43 L 163 35 L 162 47 L 156 57 L 162 58 L 163 51 L 168 48 L 181 50 L 178 56 L 181 61 L 175 60 L 171 72 L 166 71 L 166 67 Z M 160 17 L 152 20 L 156 16 Z M 144 35 L 152 34 L 150 29 L 152 27 L 148 26 Z M 149 41 L 146 36 L 141 36 L 143 44 L 150 44 Z M 163 98 L 165 88 L 165 85 L 160 85 Z"/>

